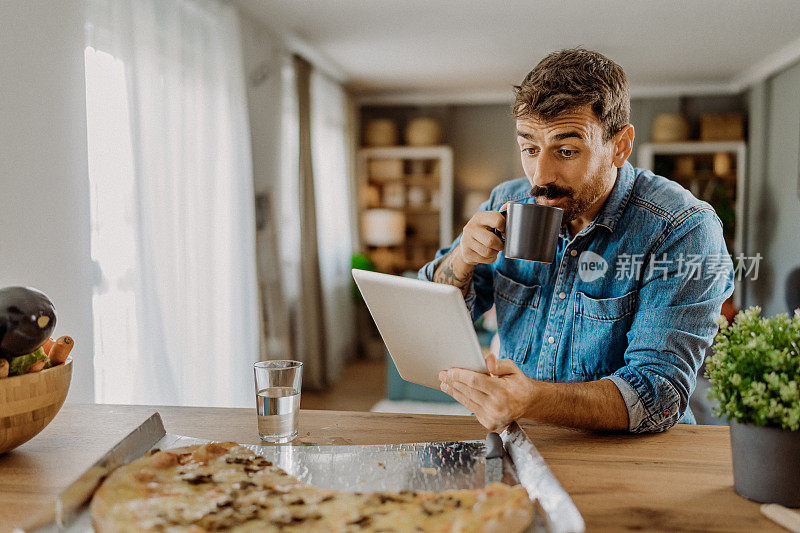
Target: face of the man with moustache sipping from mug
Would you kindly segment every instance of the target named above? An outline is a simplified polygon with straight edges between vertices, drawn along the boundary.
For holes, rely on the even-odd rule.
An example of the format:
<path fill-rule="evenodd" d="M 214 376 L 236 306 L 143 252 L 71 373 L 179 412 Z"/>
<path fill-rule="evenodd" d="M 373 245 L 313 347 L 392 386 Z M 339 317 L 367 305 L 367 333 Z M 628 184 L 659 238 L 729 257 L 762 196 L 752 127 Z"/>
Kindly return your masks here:
<path fill-rule="evenodd" d="M 571 222 L 589 210 L 613 186 L 614 139 L 603 141 L 603 127 L 591 107 L 542 122 L 517 119 L 522 168 L 531 196 L 564 210 Z"/>

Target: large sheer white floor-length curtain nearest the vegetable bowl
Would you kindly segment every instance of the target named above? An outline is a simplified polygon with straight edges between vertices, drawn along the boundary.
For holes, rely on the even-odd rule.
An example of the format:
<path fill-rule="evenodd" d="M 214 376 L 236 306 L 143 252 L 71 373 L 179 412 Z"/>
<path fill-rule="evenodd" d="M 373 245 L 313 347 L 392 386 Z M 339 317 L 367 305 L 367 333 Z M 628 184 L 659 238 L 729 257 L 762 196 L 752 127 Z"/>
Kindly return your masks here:
<path fill-rule="evenodd" d="M 89 0 L 99 402 L 253 405 L 255 221 L 236 11 Z"/>

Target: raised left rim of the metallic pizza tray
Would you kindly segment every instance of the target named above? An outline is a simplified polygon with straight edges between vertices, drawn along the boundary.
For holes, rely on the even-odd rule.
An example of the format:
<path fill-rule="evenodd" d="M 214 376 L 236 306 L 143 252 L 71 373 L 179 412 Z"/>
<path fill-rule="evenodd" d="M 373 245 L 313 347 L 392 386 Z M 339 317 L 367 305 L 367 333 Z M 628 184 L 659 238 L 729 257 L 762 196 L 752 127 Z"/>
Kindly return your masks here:
<path fill-rule="evenodd" d="M 112 470 L 144 455 L 166 433 L 161 415 L 153 413 L 64 489 L 54 502 L 45 505 L 28 523 L 25 530 L 31 531 L 53 522 L 58 528 L 65 528 L 71 524 L 83 504 L 92 497 L 100 482 Z"/>

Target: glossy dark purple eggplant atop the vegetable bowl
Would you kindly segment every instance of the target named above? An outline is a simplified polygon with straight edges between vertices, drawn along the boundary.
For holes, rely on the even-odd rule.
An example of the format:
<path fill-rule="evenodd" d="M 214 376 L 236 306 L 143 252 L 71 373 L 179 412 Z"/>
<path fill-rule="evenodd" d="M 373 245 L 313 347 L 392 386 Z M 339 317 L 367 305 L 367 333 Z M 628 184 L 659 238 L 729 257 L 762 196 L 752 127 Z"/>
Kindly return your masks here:
<path fill-rule="evenodd" d="M 0 357 L 35 352 L 56 327 L 56 309 L 47 295 L 32 287 L 0 289 Z"/>

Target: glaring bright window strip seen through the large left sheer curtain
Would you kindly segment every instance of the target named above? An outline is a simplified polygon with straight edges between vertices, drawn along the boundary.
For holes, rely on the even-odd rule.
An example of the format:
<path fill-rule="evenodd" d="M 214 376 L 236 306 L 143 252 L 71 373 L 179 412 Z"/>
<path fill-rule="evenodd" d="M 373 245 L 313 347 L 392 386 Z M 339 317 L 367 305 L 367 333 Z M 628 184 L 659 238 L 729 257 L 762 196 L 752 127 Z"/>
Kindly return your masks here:
<path fill-rule="evenodd" d="M 95 401 L 133 402 L 138 353 L 134 268 L 137 261 L 133 155 L 125 66 L 87 47 Z M 114 390 L 109 391 L 109 384 Z"/>

